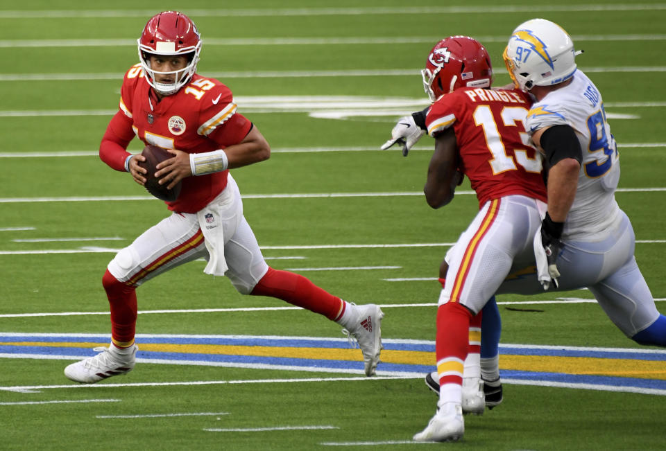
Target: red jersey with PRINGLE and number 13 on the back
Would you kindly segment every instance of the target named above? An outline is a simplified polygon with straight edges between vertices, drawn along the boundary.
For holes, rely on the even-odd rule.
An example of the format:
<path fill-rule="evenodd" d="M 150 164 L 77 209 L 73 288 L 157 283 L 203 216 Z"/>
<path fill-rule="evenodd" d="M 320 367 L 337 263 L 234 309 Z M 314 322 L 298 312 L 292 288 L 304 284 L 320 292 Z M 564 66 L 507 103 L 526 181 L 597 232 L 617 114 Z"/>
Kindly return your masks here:
<path fill-rule="evenodd" d="M 541 157 L 527 144 L 524 129 L 530 105 L 529 95 L 518 90 L 460 88 L 429 110 L 428 134 L 454 128 L 459 170 L 470 179 L 479 206 L 506 195 L 546 202 Z"/>

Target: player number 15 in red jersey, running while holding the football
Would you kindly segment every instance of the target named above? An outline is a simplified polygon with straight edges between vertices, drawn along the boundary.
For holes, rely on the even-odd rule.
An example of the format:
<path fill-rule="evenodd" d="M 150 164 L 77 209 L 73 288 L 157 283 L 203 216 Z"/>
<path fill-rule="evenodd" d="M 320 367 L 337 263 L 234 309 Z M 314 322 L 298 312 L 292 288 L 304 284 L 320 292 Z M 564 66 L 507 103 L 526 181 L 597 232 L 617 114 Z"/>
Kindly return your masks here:
<path fill-rule="evenodd" d="M 155 15 L 138 39 L 139 64 L 123 79 L 119 111 L 110 121 L 99 154 L 111 168 L 146 182 L 145 158 L 126 149 L 137 136 L 173 157 L 155 173 L 180 195 L 173 213 L 142 233 L 111 260 L 102 278 L 111 310 L 112 342 L 93 357 L 67 366 L 76 382 L 94 383 L 135 366 L 136 289 L 151 278 L 197 258 L 206 274 L 227 276 L 242 294 L 269 296 L 324 315 L 357 339 L 366 375 L 374 375 L 382 348 L 382 310 L 355 306 L 307 278 L 268 267 L 243 215 L 229 169 L 268 159 L 271 150 L 256 125 L 237 112 L 232 92 L 196 73 L 201 39 L 181 12 Z"/>

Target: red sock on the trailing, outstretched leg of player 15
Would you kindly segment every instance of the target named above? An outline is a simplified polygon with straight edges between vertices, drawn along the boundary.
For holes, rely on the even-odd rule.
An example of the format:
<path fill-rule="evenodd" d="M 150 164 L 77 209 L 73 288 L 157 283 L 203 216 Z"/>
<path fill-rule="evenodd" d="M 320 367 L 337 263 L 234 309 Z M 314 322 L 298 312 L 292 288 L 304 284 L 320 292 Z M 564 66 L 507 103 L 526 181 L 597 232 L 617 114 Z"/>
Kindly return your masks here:
<path fill-rule="evenodd" d="M 342 299 L 322 290 L 300 274 L 271 267 L 250 294 L 282 299 L 334 321 L 342 316 L 345 307 Z"/>

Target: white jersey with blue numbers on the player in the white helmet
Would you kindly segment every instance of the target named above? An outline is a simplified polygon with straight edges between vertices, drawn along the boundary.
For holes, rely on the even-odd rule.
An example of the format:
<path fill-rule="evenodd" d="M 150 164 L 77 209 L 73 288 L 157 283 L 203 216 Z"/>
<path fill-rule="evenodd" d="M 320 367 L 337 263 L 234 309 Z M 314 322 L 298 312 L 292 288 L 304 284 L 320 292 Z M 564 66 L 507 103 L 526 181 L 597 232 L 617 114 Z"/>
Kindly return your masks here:
<path fill-rule="evenodd" d="M 620 156 L 606 121 L 604 103 L 594 83 L 581 71 L 572 82 L 549 92 L 532 105 L 525 128 L 536 132 L 543 127 L 570 125 L 576 132 L 583 161 L 574 203 L 567 215 L 563 240 L 590 240 L 590 234 L 610 230 L 620 220 L 615 188 L 620 180 Z"/>

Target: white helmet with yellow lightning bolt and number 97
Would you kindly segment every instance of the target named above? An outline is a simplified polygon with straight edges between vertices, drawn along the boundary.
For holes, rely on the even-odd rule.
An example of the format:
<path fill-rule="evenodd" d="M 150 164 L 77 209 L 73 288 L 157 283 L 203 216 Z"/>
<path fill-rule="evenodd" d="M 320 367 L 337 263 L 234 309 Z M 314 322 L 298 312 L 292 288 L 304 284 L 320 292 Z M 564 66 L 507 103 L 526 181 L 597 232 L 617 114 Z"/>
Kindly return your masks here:
<path fill-rule="evenodd" d="M 513 30 L 504 49 L 504 63 L 516 87 L 556 85 L 576 71 L 574 42 L 558 24 L 531 19 Z"/>

